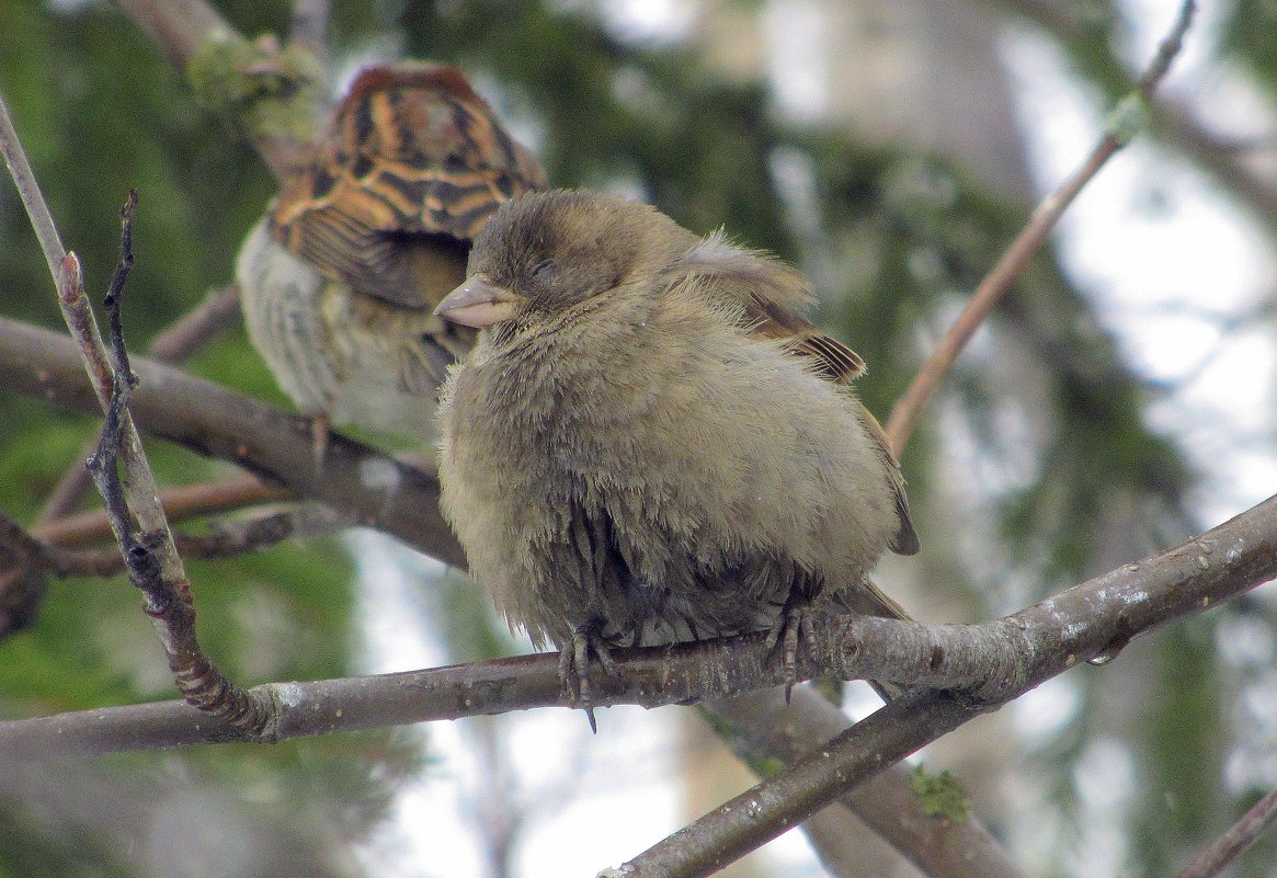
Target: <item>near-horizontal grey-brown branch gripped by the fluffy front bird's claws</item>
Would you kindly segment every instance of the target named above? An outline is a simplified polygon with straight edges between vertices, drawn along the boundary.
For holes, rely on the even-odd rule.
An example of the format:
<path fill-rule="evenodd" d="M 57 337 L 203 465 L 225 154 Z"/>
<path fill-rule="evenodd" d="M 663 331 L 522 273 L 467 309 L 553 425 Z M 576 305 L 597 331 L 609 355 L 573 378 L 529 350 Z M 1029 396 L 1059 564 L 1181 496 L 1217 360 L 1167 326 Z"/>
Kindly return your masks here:
<path fill-rule="evenodd" d="M 849 676 L 925 680 L 935 685 L 971 683 L 971 667 L 977 660 L 1004 669 L 1015 665 L 1011 673 L 983 680 L 974 690 L 978 696 L 968 692 L 960 698 L 907 698 L 919 710 L 917 721 L 898 706 L 899 702 L 893 702 L 885 708 L 893 722 L 916 725 L 912 731 L 891 731 L 881 738 L 884 747 L 890 741 L 895 741 L 890 747 L 916 741 L 899 752 L 895 757 L 899 759 L 932 740 L 927 735 L 935 729 L 944 726 L 948 731 L 955 727 L 949 724 L 960 725 L 971 716 L 995 710 L 1079 662 L 1114 656 L 1137 634 L 1209 609 L 1273 576 L 1277 576 L 1277 496 L 1203 536 L 1126 564 L 1006 619 L 979 625 L 923 625 L 866 618 L 834 620 L 822 638 L 827 643 L 826 664 L 803 656 L 798 673 L 803 676 L 848 673 Z M 766 650 L 764 639 L 765 634 L 760 633 L 670 647 L 618 650 L 616 657 L 622 664 L 622 674 L 618 678 L 598 675 L 595 704 L 655 707 L 776 685 L 784 680 L 783 662 Z M 939 651 L 919 650 L 927 643 L 940 644 Z M 261 743 L 566 706 L 557 662 L 555 655 L 543 653 L 427 671 L 268 684 L 258 687 L 257 692 L 269 697 L 276 715 L 258 736 L 238 733 L 207 716 L 197 718 L 180 702 L 170 702 L 4 722 L 0 724 L 0 745 L 54 755 L 230 740 Z M 857 736 L 856 740 L 866 739 Z M 867 740 L 877 747 L 880 738 Z M 857 777 L 868 776 L 847 775 L 853 780 L 840 789 L 833 789 L 836 785 L 826 778 L 824 789 L 830 798 L 825 804 L 852 789 Z M 805 798 L 803 801 L 816 800 Z M 757 824 L 779 831 L 783 826 L 771 822 L 775 817 L 760 818 Z M 801 822 L 802 818 L 788 822 L 794 819 Z"/>

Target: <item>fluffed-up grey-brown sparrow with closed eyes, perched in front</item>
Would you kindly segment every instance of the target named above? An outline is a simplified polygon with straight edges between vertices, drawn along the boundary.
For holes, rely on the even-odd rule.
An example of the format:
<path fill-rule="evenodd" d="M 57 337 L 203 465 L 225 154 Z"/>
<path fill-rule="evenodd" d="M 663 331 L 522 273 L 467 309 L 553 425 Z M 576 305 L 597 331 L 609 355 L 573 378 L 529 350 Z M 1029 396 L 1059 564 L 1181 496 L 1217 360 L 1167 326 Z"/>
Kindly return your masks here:
<path fill-rule="evenodd" d="M 722 232 L 555 190 L 503 205 L 438 306 L 481 329 L 441 394 L 443 512 L 587 708 L 610 646 L 783 632 L 792 675 L 815 602 L 903 618 L 866 576 L 918 550 L 900 468 L 810 300 Z"/>

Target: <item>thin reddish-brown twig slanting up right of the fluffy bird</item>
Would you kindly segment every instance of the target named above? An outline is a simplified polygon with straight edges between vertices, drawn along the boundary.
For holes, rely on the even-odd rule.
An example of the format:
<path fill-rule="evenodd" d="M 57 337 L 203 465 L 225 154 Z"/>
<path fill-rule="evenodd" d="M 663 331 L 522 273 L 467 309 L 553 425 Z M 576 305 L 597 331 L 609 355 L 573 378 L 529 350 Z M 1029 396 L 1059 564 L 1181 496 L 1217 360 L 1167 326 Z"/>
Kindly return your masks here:
<path fill-rule="evenodd" d="M 963 308 L 962 314 L 936 345 L 936 350 L 923 364 L 913 383 L 891 408 L 886 424 L 886 434 L 893 448 L 899 453 L 908 442 L 913 426 L 940 382 L 953 368 L 958 355 L 971 341 L 994 306 L 1006 295 L 1019 278 L 1028 262 L 1037 254 L 1047 236 L 1055 228 L 1060 216 L 1078 197 L 1078 193 L 1099 172 L 1099 168 L 1133 138 L 1133 119 L 1139 116 L 1142 107 L 1153 97 L 1157 86 L 1166 77 L 1171 61 L 1184 42 L 1184 34 L 1193 22 L 1195 4 L 1184 0 L 1180 14 L 1167 37 L 1158 47 L 1157 55 L 1139 78 L 1134 94 L 1119 106 L 1110 117 L 1107 130 L 1099 143 L 1091 151 L 1082 166 L 1054 193 L 1042 199 L 1029 223 L 1019 237 L 1008 248 L 994 269 L 985 276 L 979 287 Z"/>

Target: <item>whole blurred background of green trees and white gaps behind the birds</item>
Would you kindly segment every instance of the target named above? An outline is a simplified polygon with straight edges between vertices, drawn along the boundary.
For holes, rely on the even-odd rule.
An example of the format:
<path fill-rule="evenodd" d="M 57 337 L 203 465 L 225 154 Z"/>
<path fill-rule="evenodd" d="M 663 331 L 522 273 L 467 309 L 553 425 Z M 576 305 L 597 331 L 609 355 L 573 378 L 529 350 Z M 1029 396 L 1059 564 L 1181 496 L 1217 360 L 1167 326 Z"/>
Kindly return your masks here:
<path fill-rule="evenodd" d="M 884 420 L 1175 11 L 1137 0 L 335 6 L 335 89 L 375 60 L 456 64 L 557 184 L 631 191 L 803 265 L 822 322 L 870 364 L 858 387 Z M 218 9 L 250 37 L 282 37 L 291 15 L 285 3 Z M 1204 4 L 1152 138 L 1078 204 L 927 411 L 904 457 L 923 553 L 881 570 L 921 618 L 1001 615 L 1273 491 L 1274 45 L 1271 4 Z M 230 281 L 276 182 L 124 14 L 10 1 L 0 92 L 91 290 L 114 265 L 128 188 L 140 190 L 134 345 Z M 60 325 L 11 186 L 0 223 L 0 310 Z M 239 327 L 190 369 L 286 406 Z M 9 393 L 0 410 L 0 508 L 29 522 L 94 421 Z M 227 471 L 160 443 L 152 457 L 169 482 Z M 374 563 L 387 556 L 396 564 Z M 370 533 L 190 567 L 206 643 L 245 684 L 524 648 L 480 590 Z M 1277 785 L 1273 650 L 1260 592 L 1055 680 L 926 759 L 967 781 L 1033 874 L 1166 874 Z M 123 578 L 52 584 L 38 620 L 0 642 L 4 716 L 171 694 Z M 863 710 L 858 688 L 847 698 Z M 0 875 L 585 872 L 734 791 L 681 768 L 730 759 L 684 717 L 609 711 L 598 739 L 577 716 L 497 717 L 5 767 Z M 547 757 L 545 741 L 563 754 Z M 600 807 L 644 817 L 619 828 L 573 817 Z M 186 821 L 206 831 L 175 838 Z M 737 874 L 821 874 L 794 838 L 773 847 Z M 873 850 L 863 874 L 885 874 Z M 1235 873 L 1271 875 L 1274 858 L 1260 844 Z"/>

